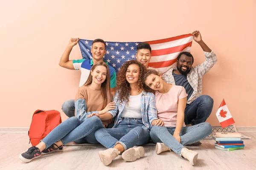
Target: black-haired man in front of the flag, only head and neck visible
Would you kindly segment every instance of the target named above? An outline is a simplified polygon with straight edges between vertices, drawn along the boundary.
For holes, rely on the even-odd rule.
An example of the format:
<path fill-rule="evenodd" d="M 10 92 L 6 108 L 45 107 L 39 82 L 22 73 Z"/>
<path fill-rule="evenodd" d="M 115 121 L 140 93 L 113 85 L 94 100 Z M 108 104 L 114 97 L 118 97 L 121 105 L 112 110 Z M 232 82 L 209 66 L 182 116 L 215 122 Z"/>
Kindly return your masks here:
<path fill-rule="evenodd" d="M 146 68 L 152 68 L 148 67 L 148 63 L 151 59 L 151 46 L 147 42 L 141 42 L 137 46 L 136 59 L 138 62 L 141 62 L 143 65 L 145 65 Z"/>

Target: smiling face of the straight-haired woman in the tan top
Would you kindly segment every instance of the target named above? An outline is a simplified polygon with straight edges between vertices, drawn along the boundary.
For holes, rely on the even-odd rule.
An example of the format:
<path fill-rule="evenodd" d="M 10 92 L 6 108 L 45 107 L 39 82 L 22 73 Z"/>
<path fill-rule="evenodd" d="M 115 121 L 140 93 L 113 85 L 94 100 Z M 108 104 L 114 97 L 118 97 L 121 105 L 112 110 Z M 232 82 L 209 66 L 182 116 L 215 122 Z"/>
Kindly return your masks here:
<path fill-rule="evenodd" d="M 91 71 L 93 82 L 101 85 L 107 77 L 107 68 L 99 65 L 93 71 Z"/>

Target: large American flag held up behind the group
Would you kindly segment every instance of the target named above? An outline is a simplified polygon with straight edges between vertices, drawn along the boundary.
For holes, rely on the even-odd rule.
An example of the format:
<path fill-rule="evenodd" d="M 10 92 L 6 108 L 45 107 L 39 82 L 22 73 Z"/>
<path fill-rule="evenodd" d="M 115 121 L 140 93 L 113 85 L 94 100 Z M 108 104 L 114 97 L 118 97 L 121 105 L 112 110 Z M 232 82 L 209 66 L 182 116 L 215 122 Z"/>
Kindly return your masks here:
<path fill-rule="evenodd" d="M 149 67 L 157 68 L 162 73 L 174 67 L 177 56 L 182 51 L 191 50 L 192 34 L 180 35 L 177 37 L 162 40 L 147 41 L 151 46 L 151 59 Z M 79 47 L 84 59 L 92 58 L 90 52 L 93 40 L 79 40 Z M 136 59 L 137 45 L 140 42 L 106 42 L 106 54 L 104 59 L 108 61 L 116 72 L 122 64 L 131 59 Z"/>

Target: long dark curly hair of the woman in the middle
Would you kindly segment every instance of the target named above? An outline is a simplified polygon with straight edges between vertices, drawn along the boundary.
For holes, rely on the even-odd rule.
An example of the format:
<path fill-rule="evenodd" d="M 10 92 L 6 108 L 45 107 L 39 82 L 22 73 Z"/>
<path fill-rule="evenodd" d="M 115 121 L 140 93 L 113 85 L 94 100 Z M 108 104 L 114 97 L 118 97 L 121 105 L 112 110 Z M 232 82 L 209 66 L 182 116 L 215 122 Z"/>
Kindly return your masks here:
<path fill-rule="evenodd" d="M 130 87 L 130 83 L 128 83 L 128 81 L 126 80 L 125 75 L 126 75 L 127 68 L 131 64 L 137 64 L 140 67 L 138 86 L 139 86 L 139 91 L 141 89 L 143 89 L 143 76 L 144 76 L 145 70 L 146 70 L 145 66 L 135 59 L 125 62 L 121 66 L 120 71 L 117 73 L 117 77 L 116 77 L 116 82 L 117 82 L 116 83 L 117 84 L 116 91 L 119 92 L 120 103 L 125 100 L 127 100 L 127 103 L 129 102 L 131 87 Z"/>

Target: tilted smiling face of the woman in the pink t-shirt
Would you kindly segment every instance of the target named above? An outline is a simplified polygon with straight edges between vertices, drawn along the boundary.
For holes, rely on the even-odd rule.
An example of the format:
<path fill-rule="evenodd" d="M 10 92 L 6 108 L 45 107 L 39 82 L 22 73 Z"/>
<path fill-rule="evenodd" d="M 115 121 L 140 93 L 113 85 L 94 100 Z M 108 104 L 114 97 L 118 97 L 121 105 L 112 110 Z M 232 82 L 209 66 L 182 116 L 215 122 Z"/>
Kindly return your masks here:
<path fill-rule="evenodd" d="M 150 74 L 145 79 L 145 85 L 147 85 L 149 88 L 155 91 L 163 90 L 163 79 L 161 76 Z"/>

